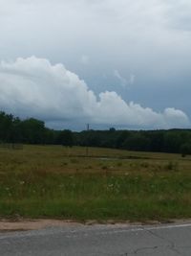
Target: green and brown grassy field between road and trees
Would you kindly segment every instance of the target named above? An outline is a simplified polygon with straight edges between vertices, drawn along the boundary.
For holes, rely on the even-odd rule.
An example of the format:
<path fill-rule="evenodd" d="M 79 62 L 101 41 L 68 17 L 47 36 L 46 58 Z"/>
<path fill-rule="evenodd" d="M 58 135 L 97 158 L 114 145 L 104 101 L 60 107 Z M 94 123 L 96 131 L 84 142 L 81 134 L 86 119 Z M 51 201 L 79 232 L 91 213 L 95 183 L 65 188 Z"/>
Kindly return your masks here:
<path fill-rule="evenodd" d="M 191 218 L 191 157 L 58 146 L 0 149 L 0 217 Z"/>

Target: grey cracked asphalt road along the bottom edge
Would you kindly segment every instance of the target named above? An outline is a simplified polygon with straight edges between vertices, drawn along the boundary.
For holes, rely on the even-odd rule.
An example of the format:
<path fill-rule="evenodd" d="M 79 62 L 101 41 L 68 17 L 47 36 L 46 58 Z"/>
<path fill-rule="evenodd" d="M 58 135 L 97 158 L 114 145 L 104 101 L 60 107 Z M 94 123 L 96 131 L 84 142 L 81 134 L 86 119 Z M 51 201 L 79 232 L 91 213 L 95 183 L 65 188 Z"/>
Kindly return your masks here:
<path fill-rule="evenodd" d="M 191 223 L 68 225 L 0 233 L 0 255 L 191 256 Z"/>

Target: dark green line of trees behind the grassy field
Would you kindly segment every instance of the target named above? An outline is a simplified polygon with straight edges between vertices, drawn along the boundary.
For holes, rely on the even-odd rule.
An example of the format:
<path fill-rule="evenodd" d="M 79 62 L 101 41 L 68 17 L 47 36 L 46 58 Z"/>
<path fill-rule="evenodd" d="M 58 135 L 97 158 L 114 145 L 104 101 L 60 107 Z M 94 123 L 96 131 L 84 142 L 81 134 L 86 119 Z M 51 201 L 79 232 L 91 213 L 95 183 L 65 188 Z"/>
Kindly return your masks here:
<path fill-rule="evenodd" d="M 21 120 L 0 111 L 0 142 L 53 144 L 123 149 L 129 151 L 191 153 L 191 129 L 159 130 L 54 130 L 41 120 Z"/>

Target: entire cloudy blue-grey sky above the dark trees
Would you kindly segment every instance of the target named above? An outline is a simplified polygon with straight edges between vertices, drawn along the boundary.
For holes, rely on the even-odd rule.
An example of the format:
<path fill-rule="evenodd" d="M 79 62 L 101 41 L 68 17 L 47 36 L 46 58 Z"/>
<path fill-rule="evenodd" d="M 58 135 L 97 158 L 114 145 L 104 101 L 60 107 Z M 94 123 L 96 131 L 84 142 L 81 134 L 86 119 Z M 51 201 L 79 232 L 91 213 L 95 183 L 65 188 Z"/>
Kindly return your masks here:
<path fill-rule="evenodd" d="M 190 0 L 0 0 L 0 110 L 47 127 L 190 128 Z"/>

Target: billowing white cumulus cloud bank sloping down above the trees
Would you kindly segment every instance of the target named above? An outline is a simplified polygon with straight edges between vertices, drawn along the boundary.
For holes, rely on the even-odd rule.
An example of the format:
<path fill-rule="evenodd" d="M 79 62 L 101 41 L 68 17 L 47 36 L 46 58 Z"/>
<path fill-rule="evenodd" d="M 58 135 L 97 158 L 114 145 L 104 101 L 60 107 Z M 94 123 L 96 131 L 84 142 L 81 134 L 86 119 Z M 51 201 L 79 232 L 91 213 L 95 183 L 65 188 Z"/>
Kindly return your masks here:
<path fill-rule="evenodd" d="M 63 64 L 45 58 L 17 58 L 0 63 L 0 108 L 21 117 L 46 122 L 135 128 L 183 128 L 189 125 L 180 109 L 156 112 L 133 102 L 125 102 L 117 92 L 97 97 L 85 81 Z"/>

